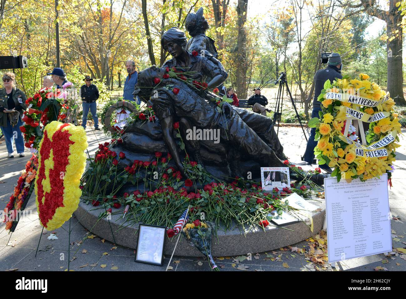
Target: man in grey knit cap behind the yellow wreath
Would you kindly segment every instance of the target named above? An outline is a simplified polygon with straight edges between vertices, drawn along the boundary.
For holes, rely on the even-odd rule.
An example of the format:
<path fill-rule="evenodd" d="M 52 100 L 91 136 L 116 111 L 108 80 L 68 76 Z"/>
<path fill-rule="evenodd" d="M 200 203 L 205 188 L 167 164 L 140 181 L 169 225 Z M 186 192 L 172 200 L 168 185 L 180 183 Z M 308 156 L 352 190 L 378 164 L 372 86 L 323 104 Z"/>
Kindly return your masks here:
<path fill-rule="evenodd" d="M 338 78 L 341 79 L 343 76 L 341 76 L 341 68 L 342 68 L 342 63 L 341 63 L 341 57 L 340 54 L 338 53 L 332 53 L 330 56 L 328 56 L 328 65 L 325 69 L 319 69 L 316 74 L 314 75 L 314 81 L 315 81 L 315 86 L 314 86 L 314 98 L 313 98 L 313 111 L 311 113 L 311 117 L 319 117 L 319 111 L 322 111 L 321 108 L 321 102 L 317 101 L 317 97 L 322 93 L 322 89 L 324 89 L 324 82 L 327 81 L 327 79 L 330 80 L 331 83 Z M 312 128 L 310 130 L 310 137 L 309 141 L 307 141 L 307 147 L 306 147 L 306 152 L 304 152 L 304 155 L 302 157 L 302 160 L 306 161 L 309 164 L 313 163 L 314 159 L 314 148 L 317 145 L 317 141 L 314 141 L 314 137 L 316 134 L 316 128 Z M 319 165 L 319 167 L 323 170 L 325 170 L 328 173 L 332 172 L 332 169 L 328 167 L 327 165 Z"/>

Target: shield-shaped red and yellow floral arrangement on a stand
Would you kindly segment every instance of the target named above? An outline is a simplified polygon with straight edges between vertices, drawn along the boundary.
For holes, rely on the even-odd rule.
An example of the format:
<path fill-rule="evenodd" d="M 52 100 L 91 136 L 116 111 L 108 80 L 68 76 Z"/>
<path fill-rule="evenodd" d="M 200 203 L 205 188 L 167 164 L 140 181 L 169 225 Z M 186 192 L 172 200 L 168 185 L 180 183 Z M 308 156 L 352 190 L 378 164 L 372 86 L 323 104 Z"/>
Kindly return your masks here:
<path fill-rule="evenodd" d="M 38 152 L 35 202 L 39 220 L 47 230 L 60 228 L 78 208 L 87 145 L 82 126 L 52 121 L 44 129 Z"/>

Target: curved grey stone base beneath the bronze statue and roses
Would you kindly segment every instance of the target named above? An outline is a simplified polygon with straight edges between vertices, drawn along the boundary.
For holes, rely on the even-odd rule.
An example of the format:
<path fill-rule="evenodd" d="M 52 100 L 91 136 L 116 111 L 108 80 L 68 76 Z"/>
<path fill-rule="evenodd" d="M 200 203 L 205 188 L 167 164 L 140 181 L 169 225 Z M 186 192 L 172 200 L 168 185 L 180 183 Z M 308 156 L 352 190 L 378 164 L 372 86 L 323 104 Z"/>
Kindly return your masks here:
<path fill-rule="evenodd" d="M 268 226 L 265 228 L 265 231 L 263 231 L 262 228 L 256 226 L 254 229 L 246 231 L 245 236 L 238 228 L 227 230 L 227 232 L 217 230 L 218 238 L 213 235 L 212 241 L 213 256 L 236 256 L 270 251 L 272 249 L 278 249 L 298 243 L 317 234 L 323 228 L 326 210 L 324 202 L 310 202 L 322 208 L 320 212 L 313 213 L 313 232 L 311 232 L 310 228 L 302 222 L 284 226 L 284 228 L 290 230 Z M 108 220 L 104 218 L 97 222 L 98 215 L 102 209 L 93 209 L 95 209 L 95 207 L 91 206 L 91 204 L 86 205 L 83 202 L 80 202 L 78 209 L 75 211 L 75 215 L 79 219 L 79 222 L 86 229 L 91 230 L 93 234 L 113 242 Z M 110 220 L 115 241 L 118 245 L 135 249 L 138 235 L 137 226 L 125 226 L 128 223 L 126 224 L 122 217 L 122 214 L 112 215 L 112 219 Z M 164 254 L 172 254 L 176 238 L 177 236 L 171 239 L 166 237 Z M 175 251 L 175 256 L 203 255 L 194 246 L 190 245 L 183 236 L 181 236 Z"/>

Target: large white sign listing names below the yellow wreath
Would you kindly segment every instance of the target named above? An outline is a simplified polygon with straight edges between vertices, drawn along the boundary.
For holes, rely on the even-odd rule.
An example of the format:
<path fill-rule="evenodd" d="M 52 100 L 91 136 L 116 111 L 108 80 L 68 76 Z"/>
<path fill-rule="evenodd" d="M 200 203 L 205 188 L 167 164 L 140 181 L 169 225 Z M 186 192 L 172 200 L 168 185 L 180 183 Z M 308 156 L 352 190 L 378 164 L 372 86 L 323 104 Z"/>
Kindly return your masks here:
<path fill-rule="evenodd" d="M 392 251 L 388 177 L 324 179 L 328 262 Z"/>

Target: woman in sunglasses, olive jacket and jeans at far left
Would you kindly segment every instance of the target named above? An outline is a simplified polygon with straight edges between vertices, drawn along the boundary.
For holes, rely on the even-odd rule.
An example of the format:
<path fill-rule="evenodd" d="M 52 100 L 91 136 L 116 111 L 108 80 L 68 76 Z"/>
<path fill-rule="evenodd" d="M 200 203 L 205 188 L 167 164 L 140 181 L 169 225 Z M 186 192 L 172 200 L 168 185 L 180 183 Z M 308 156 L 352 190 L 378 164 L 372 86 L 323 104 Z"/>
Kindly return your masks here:
<path fill-rule="evenodd" d="M 6 140 L 9 158 L 14 158 L 13 143 L 20 157 L 24 157 L 24 137 L 20 130 L 23 126 L 23 112 L 27 106 L 26 95 L 15 87 L 15 75 L 11 72 L 3 74 L 3 87 L 0 89 L 0 126 Z"/>

